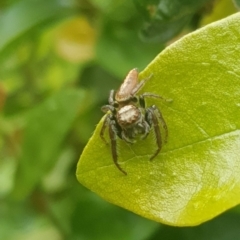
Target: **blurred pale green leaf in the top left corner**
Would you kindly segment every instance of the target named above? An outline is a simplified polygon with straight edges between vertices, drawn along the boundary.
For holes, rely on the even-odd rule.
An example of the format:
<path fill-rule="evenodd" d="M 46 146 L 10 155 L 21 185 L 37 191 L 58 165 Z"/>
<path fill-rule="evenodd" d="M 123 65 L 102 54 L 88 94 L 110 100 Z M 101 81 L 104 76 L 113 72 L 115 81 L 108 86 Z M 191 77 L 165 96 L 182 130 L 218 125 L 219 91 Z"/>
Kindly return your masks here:
<path fill-rule="evenodd" d="M 69 6 L 58 0 L 24 0 L 5 9 L 0 16 L 0 52 L 24 34 L 69 15 Z M 39 30 L 39 29 L 38 29 Z"/>

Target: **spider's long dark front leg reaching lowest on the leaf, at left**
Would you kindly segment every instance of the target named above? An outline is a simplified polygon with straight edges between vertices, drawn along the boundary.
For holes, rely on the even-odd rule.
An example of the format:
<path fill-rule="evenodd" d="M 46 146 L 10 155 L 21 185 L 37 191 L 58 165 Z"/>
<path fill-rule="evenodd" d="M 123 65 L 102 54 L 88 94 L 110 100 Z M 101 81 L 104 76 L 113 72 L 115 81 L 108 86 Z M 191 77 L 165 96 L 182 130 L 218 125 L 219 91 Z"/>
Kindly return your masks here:
<path fill-rule="evenodd" d="M 115 120 L 110 120 L 109 122 L 109 137 L 111 140 L 111 150 L 112 150 L 112 158 L 116 167 L 125 175 L 127 173 L 120 167 L 118 163 L 118 154 L 117 154 L 117 129 Z"/>

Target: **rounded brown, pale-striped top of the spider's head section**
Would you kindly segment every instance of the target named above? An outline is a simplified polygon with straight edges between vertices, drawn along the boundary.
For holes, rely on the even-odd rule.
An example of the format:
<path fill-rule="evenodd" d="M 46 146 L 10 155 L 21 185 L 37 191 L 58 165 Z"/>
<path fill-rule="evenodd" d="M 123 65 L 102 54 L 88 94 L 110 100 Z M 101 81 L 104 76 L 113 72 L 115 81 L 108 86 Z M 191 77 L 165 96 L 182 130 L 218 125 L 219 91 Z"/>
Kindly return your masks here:
<path fill-rule="evenodd" d="M 126 105 L 120 108 L 117 112 L 117 121 L 123 128 L 128 128 L 134 125 L 142 118 L 142 113 L 134 105 Z"/>

